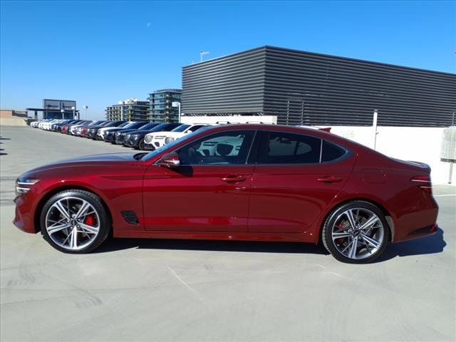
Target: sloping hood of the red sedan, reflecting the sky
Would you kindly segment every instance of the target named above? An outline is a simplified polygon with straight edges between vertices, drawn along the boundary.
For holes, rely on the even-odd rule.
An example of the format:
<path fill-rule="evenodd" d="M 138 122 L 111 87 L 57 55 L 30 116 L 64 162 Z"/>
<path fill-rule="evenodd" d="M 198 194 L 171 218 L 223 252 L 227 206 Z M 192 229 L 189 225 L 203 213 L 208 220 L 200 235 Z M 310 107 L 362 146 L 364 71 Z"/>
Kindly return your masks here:
<path fill-rule="evenodd" d="M 29 170 L 24 175 L 33 175 L 37 172 L 48 171 L 52 169 L 57 169 L 60 167 L 88 167 L 90 165 L 100 165 L 110 162 L 137 162 L 135 155 L 138 153 L 134 152 L 121 152 L 121 153 L 105 153 L 101 155 L 85 155 L 83 157 L 74 157 L 66 160 L 58 160 L 56 162 L 51 162 L 49 164 L 36 167 L 35 169 Z M 23 175 L 23 176 L 24 176 Z"/>

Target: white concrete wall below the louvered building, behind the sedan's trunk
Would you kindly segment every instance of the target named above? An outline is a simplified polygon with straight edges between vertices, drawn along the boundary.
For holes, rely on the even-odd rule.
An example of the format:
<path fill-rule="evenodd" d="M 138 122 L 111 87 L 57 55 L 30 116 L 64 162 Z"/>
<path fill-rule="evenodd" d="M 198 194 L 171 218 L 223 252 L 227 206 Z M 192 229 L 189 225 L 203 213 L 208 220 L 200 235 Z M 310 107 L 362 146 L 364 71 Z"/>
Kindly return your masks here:
<path fill-rule="evenodd" d="M 448 182 L 450 163 L 440 161 L 443 128 L 379 126 L 377 131 L 375 150 L 402 160 L 425 162 L 431 167 L 432 183 Z M 373 148 L 372 127 L 331 126 L 331 133 Z M 456 165 L 452 185 L 456 185 Z"/>

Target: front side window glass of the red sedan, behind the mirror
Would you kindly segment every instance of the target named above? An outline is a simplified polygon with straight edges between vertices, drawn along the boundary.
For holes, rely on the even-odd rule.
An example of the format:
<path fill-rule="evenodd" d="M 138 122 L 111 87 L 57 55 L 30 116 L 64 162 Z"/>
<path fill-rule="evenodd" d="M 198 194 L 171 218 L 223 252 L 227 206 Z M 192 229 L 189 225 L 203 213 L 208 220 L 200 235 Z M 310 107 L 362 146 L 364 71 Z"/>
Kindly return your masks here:
<path fill-rule="evenodd" d="M 247 162 L 253 138 L 253 130 L 216 133 L 176 152 L 181 165 L 242 165 Z"/>

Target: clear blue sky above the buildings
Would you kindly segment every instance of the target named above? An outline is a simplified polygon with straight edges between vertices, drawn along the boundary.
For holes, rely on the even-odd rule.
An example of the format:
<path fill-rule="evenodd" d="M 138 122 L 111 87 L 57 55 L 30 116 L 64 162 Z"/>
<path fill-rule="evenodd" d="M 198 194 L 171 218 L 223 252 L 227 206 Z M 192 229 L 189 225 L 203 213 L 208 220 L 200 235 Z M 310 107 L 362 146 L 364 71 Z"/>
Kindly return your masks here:
<path fill-rule="evenodd" d="M 1 108 L 107 105 L 182 66 L 271 45 L 456 72 L 455 1 L 1 1 Z"/>

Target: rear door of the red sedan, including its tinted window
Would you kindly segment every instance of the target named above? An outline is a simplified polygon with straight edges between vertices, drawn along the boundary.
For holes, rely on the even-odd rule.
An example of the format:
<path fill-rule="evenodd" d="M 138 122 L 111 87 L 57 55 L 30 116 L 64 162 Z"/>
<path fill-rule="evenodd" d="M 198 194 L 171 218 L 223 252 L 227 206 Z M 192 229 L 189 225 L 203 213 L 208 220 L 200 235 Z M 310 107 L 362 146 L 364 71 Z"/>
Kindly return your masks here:
<path fill-rule="evenodd" d="M 306 232 L 353 169 L 350 151 L 297 133 L 261 133 L 249 209 L 249 232 Z"/>

